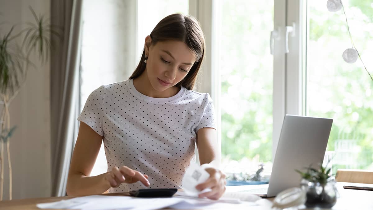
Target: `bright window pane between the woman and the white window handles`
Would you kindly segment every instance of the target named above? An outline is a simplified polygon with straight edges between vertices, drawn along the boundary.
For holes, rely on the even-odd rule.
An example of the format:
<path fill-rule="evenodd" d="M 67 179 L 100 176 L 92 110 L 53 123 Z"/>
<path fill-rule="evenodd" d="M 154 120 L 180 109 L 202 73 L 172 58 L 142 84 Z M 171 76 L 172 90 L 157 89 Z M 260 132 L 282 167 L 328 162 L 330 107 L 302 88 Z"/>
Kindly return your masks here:
<path fill-rule="evenodd" d="M 253 173 L 272 166 L 273 1 L 222 0 L 221 74 L 222 164 L 225 172 Z M 269 163 L 269 164 L 268 164 Z"/>

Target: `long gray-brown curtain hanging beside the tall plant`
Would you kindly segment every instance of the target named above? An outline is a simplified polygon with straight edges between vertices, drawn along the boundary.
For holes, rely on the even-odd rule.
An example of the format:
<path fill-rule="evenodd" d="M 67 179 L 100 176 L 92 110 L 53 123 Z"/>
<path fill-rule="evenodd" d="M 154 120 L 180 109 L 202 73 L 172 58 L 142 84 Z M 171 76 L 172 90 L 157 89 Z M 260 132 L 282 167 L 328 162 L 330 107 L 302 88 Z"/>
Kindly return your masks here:
<path fill-rule="evenodd" d="M 62 40 L 52 37 L 51 51 L 51 168 L 52 196 L 66 195 L 73 145 L 78 133 L 79 68 L 82 0 L 51 0 L 51 24 Z"/>

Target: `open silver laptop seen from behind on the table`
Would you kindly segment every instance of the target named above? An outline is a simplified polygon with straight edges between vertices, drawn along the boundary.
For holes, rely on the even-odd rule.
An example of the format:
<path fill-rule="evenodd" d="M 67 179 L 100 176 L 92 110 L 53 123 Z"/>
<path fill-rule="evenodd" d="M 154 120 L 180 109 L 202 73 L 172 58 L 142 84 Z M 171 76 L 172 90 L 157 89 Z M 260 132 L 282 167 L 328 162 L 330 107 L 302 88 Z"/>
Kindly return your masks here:
<path fill-rule="evenodd" d="M 323 161 L 333 119 L 286 114 L 273 160 L 272 173 L 266 188 L 241 190 L 260 197 L 274 197 L 279 192 L 299 187 L 301 176 L 312 165 Z"/>

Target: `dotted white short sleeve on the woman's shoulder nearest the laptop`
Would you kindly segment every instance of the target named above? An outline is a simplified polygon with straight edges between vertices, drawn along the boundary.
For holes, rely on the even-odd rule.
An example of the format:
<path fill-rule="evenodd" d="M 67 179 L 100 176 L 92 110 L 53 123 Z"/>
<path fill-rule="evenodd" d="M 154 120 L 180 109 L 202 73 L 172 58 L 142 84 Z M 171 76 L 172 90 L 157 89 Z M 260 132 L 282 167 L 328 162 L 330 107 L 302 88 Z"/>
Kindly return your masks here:
<path fill-rule="evenodd" d="M 196 133 L 199 129 L 204 127 L 211 127 L 216 130 L 215 109 L 209 93 L 206 93 L 203 105 L 203 114 L 200 123 L 195 128 Z"/>

